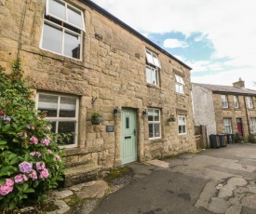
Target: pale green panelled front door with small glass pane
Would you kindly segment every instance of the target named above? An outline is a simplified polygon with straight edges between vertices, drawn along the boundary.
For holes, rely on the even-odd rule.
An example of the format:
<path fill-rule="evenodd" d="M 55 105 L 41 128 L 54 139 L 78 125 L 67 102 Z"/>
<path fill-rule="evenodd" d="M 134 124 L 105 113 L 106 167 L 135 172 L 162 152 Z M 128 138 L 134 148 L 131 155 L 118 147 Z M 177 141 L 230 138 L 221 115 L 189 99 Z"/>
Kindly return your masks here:
<path fill-rule="evenodd" d="M 128 164 L 137 160 L 136 111 L 122 110 L 121 161 Z"/>

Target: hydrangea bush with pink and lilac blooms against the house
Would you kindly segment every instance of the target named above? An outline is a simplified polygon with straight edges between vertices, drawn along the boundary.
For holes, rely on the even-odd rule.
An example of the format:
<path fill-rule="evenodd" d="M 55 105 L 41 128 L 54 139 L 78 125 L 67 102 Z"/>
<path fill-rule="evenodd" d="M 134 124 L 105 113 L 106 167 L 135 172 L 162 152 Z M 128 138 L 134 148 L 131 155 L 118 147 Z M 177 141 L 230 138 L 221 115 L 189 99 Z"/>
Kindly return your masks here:
<path fill-rule="evenodd" d="M 62 181 L 58 136 L 35 110 L 32 92 L 24 86 L 20 62 L 11 74 L 0 66 L 0 212 L 44 195 Z"/>

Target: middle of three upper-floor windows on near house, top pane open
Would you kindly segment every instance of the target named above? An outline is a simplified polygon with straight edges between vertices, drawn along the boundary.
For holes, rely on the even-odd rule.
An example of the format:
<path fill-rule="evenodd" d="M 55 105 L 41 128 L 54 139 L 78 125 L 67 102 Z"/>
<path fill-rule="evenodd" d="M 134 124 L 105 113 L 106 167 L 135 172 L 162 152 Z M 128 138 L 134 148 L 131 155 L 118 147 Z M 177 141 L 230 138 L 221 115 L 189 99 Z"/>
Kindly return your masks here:
<path fill-rule="evenodd" d="M 150 50 L 146 50 L 146 78 L 147 83 L 159 86 L 159 69 L 161 68 L 158 57 Z"/>

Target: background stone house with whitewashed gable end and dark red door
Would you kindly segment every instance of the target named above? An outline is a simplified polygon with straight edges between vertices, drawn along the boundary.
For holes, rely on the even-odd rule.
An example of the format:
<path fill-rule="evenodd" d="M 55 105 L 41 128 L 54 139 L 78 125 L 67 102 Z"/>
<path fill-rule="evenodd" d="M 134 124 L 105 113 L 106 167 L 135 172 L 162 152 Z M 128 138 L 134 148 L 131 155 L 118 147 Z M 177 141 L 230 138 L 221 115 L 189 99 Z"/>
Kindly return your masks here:
<path fill-rule="evenodd" d="M 233 87 L 192 83 L 195 126 L 207 134 L 256 134 L 256 90 L 239 81 Z M 208 141 L 209 146 L 209 141 Z"/>

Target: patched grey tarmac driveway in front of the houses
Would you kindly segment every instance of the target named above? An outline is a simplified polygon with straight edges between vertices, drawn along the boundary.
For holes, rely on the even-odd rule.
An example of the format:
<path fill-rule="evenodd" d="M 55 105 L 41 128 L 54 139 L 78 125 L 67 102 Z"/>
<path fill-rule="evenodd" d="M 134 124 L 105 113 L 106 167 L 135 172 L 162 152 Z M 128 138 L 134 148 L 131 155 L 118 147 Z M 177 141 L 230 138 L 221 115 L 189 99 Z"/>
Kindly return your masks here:
<path fill-rule="evenodd" d="M 107 195 L 93 213 L 256 213 L 256 144 L 128 167 L 136 180 Z"/>

